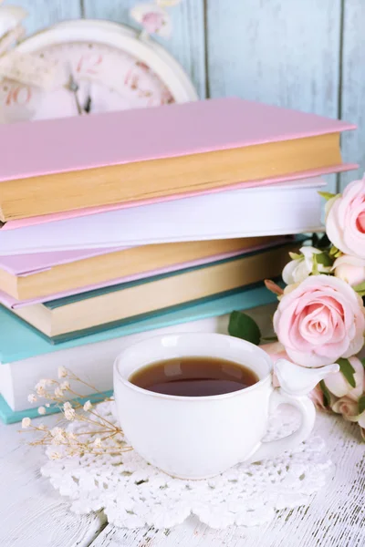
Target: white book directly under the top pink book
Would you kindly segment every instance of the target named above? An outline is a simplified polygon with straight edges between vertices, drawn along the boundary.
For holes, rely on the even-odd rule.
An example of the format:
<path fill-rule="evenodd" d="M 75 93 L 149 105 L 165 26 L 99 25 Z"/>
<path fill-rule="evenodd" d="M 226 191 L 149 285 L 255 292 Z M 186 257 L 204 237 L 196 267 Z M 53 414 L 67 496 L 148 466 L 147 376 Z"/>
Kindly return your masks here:
<path fill-rule="evenodd" d="M 0 230 L 0 255 L 316 232 L 320 178 Z"/>

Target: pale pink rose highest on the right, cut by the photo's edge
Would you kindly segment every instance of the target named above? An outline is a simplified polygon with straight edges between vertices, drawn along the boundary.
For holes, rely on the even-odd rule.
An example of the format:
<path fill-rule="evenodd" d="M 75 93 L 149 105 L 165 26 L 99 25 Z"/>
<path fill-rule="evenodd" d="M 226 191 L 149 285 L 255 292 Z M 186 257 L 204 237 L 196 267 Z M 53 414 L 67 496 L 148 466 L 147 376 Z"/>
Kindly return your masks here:
<path fill-rule="evenodd" d="M 329 241 L 342 253 L 365 258 L 365 180 L 353 181 L 326 205 Z"/>

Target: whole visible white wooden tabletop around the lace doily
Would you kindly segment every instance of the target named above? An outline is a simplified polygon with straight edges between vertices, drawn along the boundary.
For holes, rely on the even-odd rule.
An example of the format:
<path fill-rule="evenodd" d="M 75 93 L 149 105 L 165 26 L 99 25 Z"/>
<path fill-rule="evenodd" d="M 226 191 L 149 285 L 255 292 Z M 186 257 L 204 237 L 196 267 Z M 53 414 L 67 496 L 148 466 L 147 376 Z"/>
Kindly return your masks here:
<path fill-rule="evenodd" d="M 46 418 L 48 423 L 56 417 Z M 43 421 L 46 421 L 43 418 Z M 308 508 L 281 511 L 259 528 L 214 531 L 197 519 L 172 530 L 120 530 L 102 513 L 77 516 L 39 468 L 41 448 L 24 444 L 19 424 L 0 426 L 1 547 L 362 547 L 365 545 L 365 444 L 341 418 L 319 414 L 315 431 L 335 464 Z"/>

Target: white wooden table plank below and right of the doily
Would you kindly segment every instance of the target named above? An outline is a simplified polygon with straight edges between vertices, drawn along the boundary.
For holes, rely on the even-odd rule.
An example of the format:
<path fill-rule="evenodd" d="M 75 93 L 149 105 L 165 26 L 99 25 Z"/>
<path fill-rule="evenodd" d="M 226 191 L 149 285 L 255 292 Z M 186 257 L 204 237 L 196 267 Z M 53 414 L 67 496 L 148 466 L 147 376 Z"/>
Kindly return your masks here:
<path fill-rule="evenodd" d="M 365 450 L 356 426 L 327 414 L 315 431 L 336 469 L 308 508 L 280 511 L 257 528 L 214 531 L 190 518 L 172 530 L 126 531 L 108 525 L 92 547 L 355 547 L 365 543 Z M 289 541 L 288 541 L 289 538 Z"/>

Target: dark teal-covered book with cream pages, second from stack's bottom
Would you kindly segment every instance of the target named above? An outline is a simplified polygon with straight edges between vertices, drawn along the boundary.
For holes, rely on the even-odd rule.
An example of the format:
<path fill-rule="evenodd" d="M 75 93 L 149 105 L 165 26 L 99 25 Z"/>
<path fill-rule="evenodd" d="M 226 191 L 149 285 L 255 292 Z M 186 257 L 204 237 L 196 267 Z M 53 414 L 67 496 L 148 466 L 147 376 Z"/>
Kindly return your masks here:
<path fill-rule="evenodd" d="M 275 278 L 287 263 L 287 253 L 297 246 L 298 243 L 292 242 L 267 251 L 13 311 L 54 340 L 87 335 L 123 321 Z"/>

